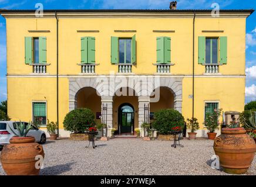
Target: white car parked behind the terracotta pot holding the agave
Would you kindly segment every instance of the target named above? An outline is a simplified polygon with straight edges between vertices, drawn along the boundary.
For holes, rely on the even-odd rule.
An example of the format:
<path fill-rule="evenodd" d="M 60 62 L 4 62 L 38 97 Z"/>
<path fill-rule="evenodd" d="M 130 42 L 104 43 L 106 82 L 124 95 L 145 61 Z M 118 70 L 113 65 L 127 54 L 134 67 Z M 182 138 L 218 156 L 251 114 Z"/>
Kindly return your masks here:
<path fill-rule="evenodd" d="M 0 149 L 4 147 L 5 144 L 9 144 L 9 140 L 11 137 L 16 136 L 12 130 L 15 131 L 15 133 L 18 133 L 18 130 L 16 129 L 16 124 L 19 124 L 20 122 L 14 122 L 14 121 L 0 121 Z M 27 122 L 25 125 L 28 125 Z M 8 126 L 9 124 L 9 126 Z M 12 130 L 10 129 L 12 128 Z M 28 134 L 26 136 L 33 136 L 36 139 L 36 142 L 40 144 L 44 144 L 46 142 L 46 134 L 44 131 L 38 129 L 37 127 L 33 126 L 31 130 L 29 130 Z"/>

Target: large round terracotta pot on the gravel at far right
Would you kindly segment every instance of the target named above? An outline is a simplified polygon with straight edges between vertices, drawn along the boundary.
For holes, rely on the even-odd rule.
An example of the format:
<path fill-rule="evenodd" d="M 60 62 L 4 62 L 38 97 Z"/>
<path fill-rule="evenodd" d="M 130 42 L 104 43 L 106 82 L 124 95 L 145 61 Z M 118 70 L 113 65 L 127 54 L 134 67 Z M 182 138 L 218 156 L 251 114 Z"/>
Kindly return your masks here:
<path fill-rule="evenodd" d="M 215 138 L 213 148 L 225 172 L 244 174 L 254 159 L 256 144 L 244 128 L 225 128 Z"/>

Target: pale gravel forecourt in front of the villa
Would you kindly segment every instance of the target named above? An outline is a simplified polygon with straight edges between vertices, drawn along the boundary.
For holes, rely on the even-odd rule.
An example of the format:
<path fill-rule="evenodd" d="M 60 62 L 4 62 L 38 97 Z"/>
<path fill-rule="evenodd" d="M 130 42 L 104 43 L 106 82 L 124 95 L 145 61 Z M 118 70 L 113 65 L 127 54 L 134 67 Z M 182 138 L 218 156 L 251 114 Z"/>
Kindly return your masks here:
<path fill-rule="evenodd" d="M 228 175 L 212 169 L 212 140 L 143 141 L 115 138 L 96 141 L 56 140 L 43 145 L 45 160 L 41 175 Z M 5 175 L 0 164 L 0 175 Z M 256 157 L 246 175 L 256 175 Z"/>

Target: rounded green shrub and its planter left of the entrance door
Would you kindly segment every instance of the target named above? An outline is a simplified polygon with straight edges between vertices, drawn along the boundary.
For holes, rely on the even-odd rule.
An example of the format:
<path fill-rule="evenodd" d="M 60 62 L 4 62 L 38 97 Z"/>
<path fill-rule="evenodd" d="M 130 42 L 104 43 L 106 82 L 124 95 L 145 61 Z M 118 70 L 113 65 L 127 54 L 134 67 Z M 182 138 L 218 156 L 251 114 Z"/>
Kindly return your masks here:
<path fill-rule="evenodd" d="M 88 140 L 86 129 L 95 127 L 95 115 L 92 110 L 79 108 L 70 111 L 63 121 L 65 130 L 71 131 L 71 140 Z"/>

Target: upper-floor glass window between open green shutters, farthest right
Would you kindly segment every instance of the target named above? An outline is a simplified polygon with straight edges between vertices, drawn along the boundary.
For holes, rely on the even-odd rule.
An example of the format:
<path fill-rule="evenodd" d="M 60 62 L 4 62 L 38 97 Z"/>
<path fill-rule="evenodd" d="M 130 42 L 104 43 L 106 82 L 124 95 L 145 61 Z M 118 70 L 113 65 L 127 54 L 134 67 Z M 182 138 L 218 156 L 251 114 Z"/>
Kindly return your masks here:
<path fill-rule="evenodd" d="M 206 38 L 206 64 L 218 64 L 218 38 Z"/>

